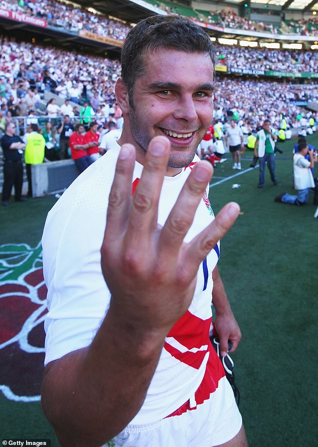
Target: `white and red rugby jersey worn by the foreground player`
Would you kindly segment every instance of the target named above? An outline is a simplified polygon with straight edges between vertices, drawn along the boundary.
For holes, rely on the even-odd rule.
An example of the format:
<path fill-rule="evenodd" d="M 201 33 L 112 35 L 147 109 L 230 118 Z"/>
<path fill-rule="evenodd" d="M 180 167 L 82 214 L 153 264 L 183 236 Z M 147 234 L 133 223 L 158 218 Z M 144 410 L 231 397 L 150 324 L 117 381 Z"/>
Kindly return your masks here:
<path fill-rule="evenodd" d="M 46 364 L 88 346 L 107 312 L 110 292 L 101 272 L 100 247 L 117 156 L 117 151 L 109 151 L 87 168 L 48 214 L 42 238 L 49 309 L 45 321 Z M 198 160 L 196 157 L 194 163 Z M 158 207 L 159 224 L 165 224 L 194 163 L 175 177 L 165 177 Z M 132 193 L 142 169 L 136 162 Z M 213 219 L 207 188 L 185 241 L 192 240 Z M 195 407 L 200 403 L 198 395 L 195 397 L 199 385 L 204 382 L 203 394 L 199 396 L 203 401 L 224 376 L 209 342 L 212 271 L 218 258 L 219 243 L 199 267 L 192 303 L 167 334 L 145 401 L 131 424 L 167 417 L 188 399 L 190 406 Z"/>

